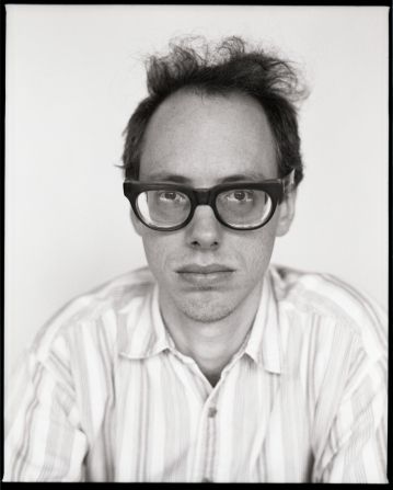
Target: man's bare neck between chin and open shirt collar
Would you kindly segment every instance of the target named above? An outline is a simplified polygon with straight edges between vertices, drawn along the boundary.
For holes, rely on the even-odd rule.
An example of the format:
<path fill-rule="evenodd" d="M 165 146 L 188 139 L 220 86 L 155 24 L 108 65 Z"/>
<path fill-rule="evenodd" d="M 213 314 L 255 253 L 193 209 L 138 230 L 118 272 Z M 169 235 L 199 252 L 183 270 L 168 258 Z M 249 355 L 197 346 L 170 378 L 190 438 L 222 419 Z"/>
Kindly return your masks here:
<path fill-rule="evenodd" d="M 189 318 L 166 295 L 160 294 L 160 309 L 176 349 L 199 366 L 212 386 L 242 345 L 255 318 L 262 282 L 227 317 L 211 322 Z"/>

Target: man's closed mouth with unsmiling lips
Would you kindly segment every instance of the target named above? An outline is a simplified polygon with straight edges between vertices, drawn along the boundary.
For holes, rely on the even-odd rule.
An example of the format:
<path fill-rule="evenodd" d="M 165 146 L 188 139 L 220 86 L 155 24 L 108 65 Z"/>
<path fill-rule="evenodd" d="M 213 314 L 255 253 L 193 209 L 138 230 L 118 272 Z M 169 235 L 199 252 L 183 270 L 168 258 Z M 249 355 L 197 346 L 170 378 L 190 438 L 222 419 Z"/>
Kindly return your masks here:
<path fill-rule="evenodd" d="M 198 288 L 211 288 L 228 282 L 234 270 L 223 264 L 189 264 L 176 271 L 180 278 Z"/>

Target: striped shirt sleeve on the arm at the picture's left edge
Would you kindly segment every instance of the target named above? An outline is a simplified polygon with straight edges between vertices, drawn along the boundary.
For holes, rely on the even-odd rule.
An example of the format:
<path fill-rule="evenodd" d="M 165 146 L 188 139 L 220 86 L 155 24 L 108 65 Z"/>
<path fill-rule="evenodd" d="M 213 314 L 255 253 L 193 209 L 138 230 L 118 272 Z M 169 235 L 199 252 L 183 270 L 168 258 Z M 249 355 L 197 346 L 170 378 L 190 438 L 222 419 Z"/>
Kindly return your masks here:
<path fill-rule="evenodd" d="M 63 360 L 32 350 L 8 391 L 3 481 L 83 481 L 88 443 Z"/>

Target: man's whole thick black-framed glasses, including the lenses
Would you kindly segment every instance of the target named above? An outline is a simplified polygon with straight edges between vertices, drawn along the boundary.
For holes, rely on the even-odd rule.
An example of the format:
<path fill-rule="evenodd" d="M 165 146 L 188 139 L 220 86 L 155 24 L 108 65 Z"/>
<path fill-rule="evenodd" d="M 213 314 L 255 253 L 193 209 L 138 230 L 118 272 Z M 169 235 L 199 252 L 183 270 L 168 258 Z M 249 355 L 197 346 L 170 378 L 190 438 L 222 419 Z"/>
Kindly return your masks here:
<path fill-rule="evenodd" d="M 254 230 L 266 225 L 277 205 L 293 189 L 294 170 L 282 179 L 233 182 L 209 189 L 193 189 L 173 182 L 140 182 L 126 179 L 125 196 L 147 227 L 174 231 L 185 227 L 199 205 L 210 206 L 228 228 Z"/>

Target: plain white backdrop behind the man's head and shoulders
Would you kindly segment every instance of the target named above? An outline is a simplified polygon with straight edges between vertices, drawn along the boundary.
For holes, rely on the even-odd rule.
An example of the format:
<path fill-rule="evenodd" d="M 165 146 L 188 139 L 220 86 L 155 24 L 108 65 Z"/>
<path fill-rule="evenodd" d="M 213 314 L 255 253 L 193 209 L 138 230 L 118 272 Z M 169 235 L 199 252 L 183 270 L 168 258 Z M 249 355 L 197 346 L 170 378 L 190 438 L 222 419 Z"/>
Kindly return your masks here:
<path fill-rule="evenodd" d="M 5 381 L 70 298 L 146 263 L 122 193 L 141 59 L 180 35 L 243 35 L 311 88 L 305 179 L 274 261 L 334 273 L 388 305 L 388 8 L 8 5 Z"/>

